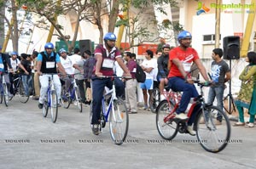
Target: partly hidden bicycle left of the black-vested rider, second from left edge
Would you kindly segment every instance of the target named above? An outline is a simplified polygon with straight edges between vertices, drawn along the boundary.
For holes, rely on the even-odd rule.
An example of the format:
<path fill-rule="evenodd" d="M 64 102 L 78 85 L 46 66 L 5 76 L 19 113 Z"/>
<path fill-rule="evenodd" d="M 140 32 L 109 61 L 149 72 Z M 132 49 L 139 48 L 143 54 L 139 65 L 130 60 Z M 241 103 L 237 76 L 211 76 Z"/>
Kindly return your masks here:
<path fill-rule="evenodd" d="M 18 75 L 13 82 L 13 86 L 14 88 L 14 95 L 12 97 L 9 97 L 9 101 L 12 100 L 16 94 L 18 94 L 19 100 L 22 104 L 26 104 L 26 102 L 29 100 L 29 94 L 26 95 L 25 93 L 25 89 L 21 80 L 21 76 Z"/>

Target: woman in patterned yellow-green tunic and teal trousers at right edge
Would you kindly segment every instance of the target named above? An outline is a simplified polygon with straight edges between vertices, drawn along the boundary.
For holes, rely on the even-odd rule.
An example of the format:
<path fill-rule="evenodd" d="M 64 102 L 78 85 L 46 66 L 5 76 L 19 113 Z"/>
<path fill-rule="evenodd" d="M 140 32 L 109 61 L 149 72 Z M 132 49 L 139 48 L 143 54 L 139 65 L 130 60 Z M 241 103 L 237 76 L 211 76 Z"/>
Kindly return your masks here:
<path fill-rule="evenodd" d="M 239 76 L 239 79 L 241 80 L 241 88 L 236 100 L 239 121 L 234 124 L 234 127 L 254 127 L 256 115 L 256 53 L 248 52 L 246 61 L 249 64 L 242 70 Z M 244 121 L 244 108 L 248 109 L 250 115 L 249 123 L 247 124 L 245 124 Z"/>

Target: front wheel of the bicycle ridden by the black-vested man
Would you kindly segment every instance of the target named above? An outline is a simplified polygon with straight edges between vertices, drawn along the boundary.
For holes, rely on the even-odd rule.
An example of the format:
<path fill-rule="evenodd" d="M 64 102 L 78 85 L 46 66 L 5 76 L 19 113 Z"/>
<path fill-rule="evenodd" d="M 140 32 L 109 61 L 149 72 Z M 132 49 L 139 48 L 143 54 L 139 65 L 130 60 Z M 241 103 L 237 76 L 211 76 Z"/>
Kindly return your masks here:
<path fill-rule="evenodd" d="M 51 121 L 55 122 L 58 116 L 58 97 L 55 90 L 50 93 L 50 115 Z"/>

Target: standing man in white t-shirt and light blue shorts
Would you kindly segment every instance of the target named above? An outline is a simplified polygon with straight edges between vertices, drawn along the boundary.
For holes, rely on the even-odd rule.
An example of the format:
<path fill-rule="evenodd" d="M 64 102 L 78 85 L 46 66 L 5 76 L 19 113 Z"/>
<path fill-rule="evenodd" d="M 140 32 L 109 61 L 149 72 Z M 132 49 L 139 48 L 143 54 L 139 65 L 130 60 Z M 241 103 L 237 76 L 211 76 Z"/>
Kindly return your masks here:
<path fill-rule="evenodd" d="M 154 53 L 151 50 L 146 50 L 146 55 L 143 60 L 143 64 L 141 67 L 143 71 L 146 73 L 146 81 L 141 83 L 141 88 L 143 89 L 143 99 L 144 99 L 144 107 L 143 110 L 148 109 L 148 94 L 149 96 L 152 93 L 152 89 L 154 86 L 154 69 L 156 69 L 155 61 L 153 59 Z"/>

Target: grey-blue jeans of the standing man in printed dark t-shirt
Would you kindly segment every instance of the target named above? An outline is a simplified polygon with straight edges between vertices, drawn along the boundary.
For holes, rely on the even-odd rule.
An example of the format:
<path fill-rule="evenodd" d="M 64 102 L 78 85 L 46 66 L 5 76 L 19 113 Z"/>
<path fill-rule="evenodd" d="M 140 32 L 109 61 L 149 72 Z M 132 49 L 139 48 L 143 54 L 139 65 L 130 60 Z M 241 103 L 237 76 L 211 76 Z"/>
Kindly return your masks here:
<path fill-rule="evenodd" d="M 223 110 L 223 96 L 224 96 L 224 85 L 218 87 L 210 87 L 208 93 L 208 104 L 212 104 L 214 99 L 217 99 L 217 107 Z M 217 120 L 222 121 L 222 115 L 218 113 Z"/>

